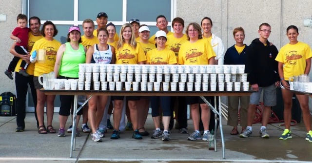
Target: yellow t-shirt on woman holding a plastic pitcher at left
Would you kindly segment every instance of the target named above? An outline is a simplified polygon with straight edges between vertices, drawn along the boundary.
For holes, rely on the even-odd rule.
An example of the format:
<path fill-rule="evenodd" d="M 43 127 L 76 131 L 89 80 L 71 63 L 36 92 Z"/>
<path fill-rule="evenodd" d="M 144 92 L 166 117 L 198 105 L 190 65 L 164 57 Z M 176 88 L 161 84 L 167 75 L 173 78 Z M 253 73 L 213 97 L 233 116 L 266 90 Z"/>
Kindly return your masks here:
<path fill-rule="evenodd" d="M 54 64 L 57 58 L 57 52 L 59 50 L 59 46 L 61 43 L 55 39 L 53 41 L 48 41 L 45 38 L 42 38 L 35 42 L 32 51 L 30 54 L 33 53 L 35 50 L 45 49 L 46 50 L 46 57 L 45 62 L 41 63 L 36 61 L 35 62 L 35 71 L 34 76 L 38 77 L 41 74 L 47 74 L 54 71 Z"/>

